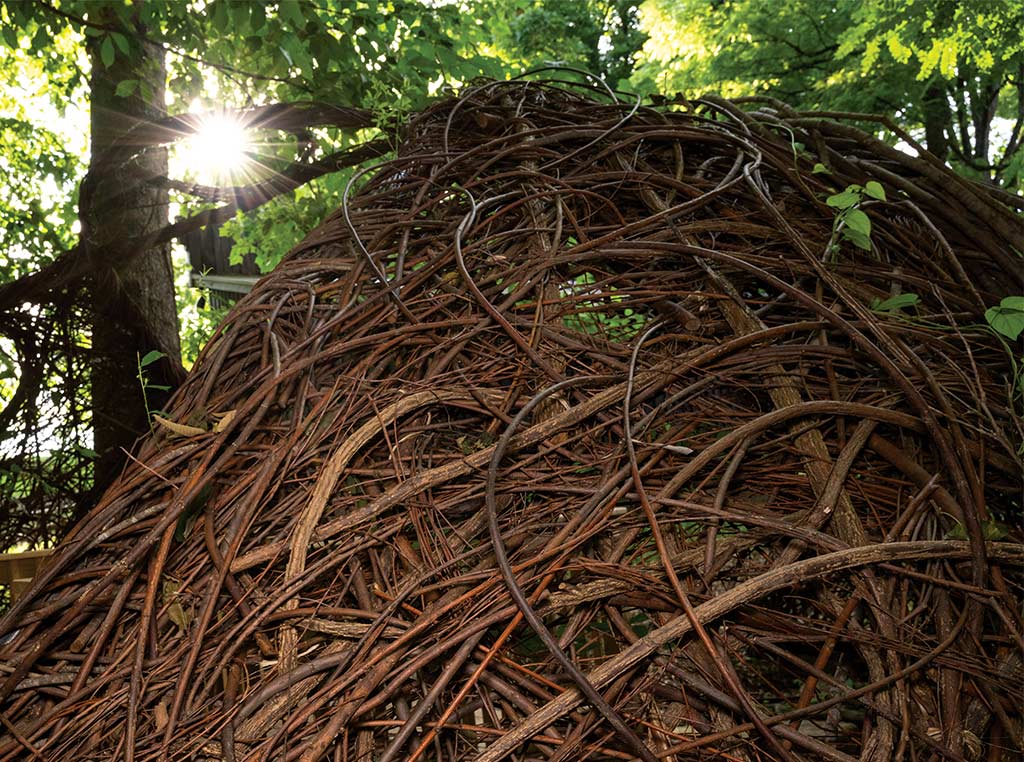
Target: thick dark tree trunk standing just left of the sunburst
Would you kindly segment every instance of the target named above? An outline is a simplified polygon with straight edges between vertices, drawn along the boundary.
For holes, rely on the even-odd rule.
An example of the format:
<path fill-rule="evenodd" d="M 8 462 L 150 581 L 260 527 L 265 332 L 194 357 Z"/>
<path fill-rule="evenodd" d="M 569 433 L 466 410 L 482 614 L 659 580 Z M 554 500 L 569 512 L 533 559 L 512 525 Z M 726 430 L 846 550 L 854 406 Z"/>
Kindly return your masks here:
<path fill-rule="evenodd" d="M 117 24 L 113 13 L 104 20 Z M 129 52 L 115 46 L 110 67 L 102 60 L 108 37 L 90 39 L 91 159 L 83 182 L 82 241 L 95 264 L 91 277 L 92 427 L 95 467 L 93 495 L 118 476 L 135 440 L 150 428 L 150 411 L 159 409 L 183 378 L 170 246 L 139 253 L 122 242 L 168 221 L 166 188 L 147 180 L 167 174 L 167 150 L 132 145 L 130 131 L 140 121 L 166 115 L 164 51 L 143 45 L 129 32 Z M 106 43 L 110 59 L 113 41 Z M 127 97 L 118 84 L 138 84 Z M 119 247 L 120 250 L 119 250 Z M 166 358 L 144 369 L 148 388 L 138 378 L 138 358 L 157 349 Z"/>

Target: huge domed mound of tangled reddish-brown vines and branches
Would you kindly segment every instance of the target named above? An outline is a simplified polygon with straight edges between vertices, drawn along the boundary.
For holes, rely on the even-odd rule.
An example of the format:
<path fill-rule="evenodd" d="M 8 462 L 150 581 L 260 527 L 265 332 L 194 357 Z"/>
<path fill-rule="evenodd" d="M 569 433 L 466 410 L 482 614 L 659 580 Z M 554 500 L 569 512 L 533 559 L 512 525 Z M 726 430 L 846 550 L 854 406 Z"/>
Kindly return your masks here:
<path fill-rule="evenodd" d="M 1013 200 L 579 92 L 419 115 L 240 303 L 3 621 L 0 759 L 1018 758 Z"/>

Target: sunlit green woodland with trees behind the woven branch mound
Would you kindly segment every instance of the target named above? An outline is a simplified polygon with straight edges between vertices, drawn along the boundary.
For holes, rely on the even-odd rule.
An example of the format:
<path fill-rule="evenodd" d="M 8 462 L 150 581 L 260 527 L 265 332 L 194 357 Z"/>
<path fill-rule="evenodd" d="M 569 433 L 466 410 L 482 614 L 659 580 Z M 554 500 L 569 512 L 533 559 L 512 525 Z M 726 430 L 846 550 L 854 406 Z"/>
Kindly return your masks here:
<path fill-rule="evenodd" d="M 223 316 L 181 238 L 223 221 L 268 271 L 431 98 L 548 68 L 884 115 L 1020 198 L 1022 30 L 1024 0 L 0 2 L 0 551 L 95 502 Z"/>

